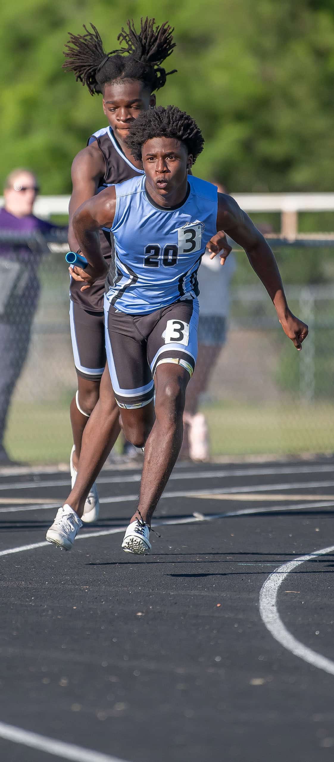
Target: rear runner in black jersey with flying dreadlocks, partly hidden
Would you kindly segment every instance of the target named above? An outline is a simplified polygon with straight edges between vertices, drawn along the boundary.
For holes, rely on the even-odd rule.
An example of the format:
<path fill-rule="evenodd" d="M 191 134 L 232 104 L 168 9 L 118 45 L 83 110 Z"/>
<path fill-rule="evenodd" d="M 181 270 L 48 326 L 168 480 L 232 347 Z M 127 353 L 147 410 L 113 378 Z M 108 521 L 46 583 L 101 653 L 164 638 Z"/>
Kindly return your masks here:
<path fill-rule="evenodd" d="M 78 251 L 78 242 L 72 229 L 72 216 L 78 207 L 108 184 L 119 183 L 143 174 L 142 163 L 136 162 L 126 137 L 129 125 L 142 110 L 155 104 L 154 90 L 163 87 L 167 75 L 161 64 L 173 52 L 173 29 L 167 24 L 154 26 L 154 19 L 141 20 L 137 34 L 133 22 L 122 29 L 119 42 L 124 46 L 106 53 L 100 34 L 95 27 L 86 34 L 70 34 L 66 45 L 64 68 L 87 85 L 92 95 L 103 94 L 103 111 L 109 125 L 90 137 L 87 147 L 75 156 L 72 164 L 73 191 L 69 205 L 68 242 L 72 251 Z M 175 71 L 175 70 L 174 70 Z M 103 294 L 108 269 L 113 271 L 113 241 L 107 230 L 100 233 L 101 251 L 105 268 L 94 286 L 86 291 L 75 269 L 70 287 L 70 323 L 78 392 L 71 402 L 71 423 L 74 445 L 71 453 L 72 486 L 75 482 L 84 427 L 97 404 L 100 381 L 106 363 Z M 226 245 L 223 234 L 212 239 L 212 251 Z M 110 267 L 111 263 L 111 267 Z M 110 383 L 107 375 L 106 383 Z M 108 431 L 109 451 L 119 435 L 119 411 L 110 396 L 110 411 L 105 425 Z M 103 462 L 108 453 L 100 453 Z M 93 521 L 98 514 L 96 486 L 93 485 L 85 503 L 84 521 Z"/>

